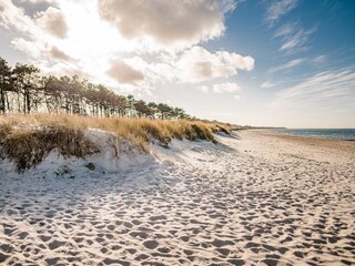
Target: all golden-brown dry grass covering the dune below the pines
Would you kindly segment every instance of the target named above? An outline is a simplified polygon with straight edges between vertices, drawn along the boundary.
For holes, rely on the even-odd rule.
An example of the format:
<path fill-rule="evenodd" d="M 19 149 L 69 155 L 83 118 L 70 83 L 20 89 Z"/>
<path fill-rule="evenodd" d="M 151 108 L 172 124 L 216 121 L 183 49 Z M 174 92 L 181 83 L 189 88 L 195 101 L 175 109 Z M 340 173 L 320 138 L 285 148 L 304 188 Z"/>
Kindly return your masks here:
<path fill-rule="evenodd" d="M 149 143 L 168 146 L 172 139 L 199 139 L 216 143 L 213 132 L 220 127 L 221 124 L 190 120 L 9 114 L 0 116 L 0 156 L 13 161 L 18 171 L 23 172 L 41 163 L 52 151 L 64 157 L 84 157 L 100 152 L 94 143 L 85 137 L 87 129 L 114 133 L 148 151 Z"/>

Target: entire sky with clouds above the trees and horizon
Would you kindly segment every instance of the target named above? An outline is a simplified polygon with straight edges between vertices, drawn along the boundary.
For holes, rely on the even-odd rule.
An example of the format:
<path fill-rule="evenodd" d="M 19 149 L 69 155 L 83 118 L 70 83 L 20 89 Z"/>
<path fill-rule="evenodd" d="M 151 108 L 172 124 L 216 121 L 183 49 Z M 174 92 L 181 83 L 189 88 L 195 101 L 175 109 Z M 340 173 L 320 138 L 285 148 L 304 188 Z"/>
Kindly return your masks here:
<path fill-rule="evenodd" d="M 0 57 L 241 125 L 355 129 L 354 0 L 0 0 Z"/>

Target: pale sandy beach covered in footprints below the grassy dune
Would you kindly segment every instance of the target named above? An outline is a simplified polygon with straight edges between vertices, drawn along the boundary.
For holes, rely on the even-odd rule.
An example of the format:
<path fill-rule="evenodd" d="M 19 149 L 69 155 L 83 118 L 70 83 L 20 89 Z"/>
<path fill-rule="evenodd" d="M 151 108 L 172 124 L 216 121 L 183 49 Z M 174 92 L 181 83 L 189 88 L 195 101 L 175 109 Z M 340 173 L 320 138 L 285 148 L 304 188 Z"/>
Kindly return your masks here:
<path fill-rule="evenodd" d="M 116 174 L 10 175 L 0 265 L 354 265 L 355 143 L 244 131 Z"/>

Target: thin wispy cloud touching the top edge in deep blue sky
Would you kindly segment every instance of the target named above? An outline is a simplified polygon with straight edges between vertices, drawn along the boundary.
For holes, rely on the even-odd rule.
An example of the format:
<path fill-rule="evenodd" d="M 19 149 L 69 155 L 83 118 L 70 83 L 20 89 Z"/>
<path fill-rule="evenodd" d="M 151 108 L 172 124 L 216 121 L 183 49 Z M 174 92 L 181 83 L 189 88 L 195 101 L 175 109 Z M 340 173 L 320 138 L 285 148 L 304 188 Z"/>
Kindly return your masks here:
<path fill-rule="evenodd" d="M 266 21 L 271 25 L 281 17 L 296 8 L 298 0 L 273 0 L 266 10 Z"/>

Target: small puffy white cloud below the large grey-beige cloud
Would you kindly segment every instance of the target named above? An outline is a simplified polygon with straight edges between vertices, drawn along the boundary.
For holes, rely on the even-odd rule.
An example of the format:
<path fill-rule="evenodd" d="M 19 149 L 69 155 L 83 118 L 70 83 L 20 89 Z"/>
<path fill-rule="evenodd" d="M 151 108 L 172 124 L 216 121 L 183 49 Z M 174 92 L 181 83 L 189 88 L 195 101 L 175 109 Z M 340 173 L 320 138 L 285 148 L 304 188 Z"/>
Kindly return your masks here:
<path fill-rule="evenodd" d="M 211 53 L 202 47 L 193 47 L 181 54 L 176 66 L 181 81 L 196 83 L 233 76 L 237 70 L 250 71 L 254 68 L 254 59 L 226 51 Z"/>

